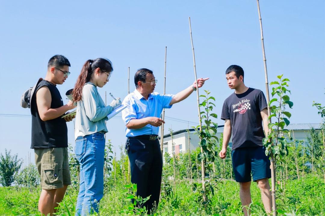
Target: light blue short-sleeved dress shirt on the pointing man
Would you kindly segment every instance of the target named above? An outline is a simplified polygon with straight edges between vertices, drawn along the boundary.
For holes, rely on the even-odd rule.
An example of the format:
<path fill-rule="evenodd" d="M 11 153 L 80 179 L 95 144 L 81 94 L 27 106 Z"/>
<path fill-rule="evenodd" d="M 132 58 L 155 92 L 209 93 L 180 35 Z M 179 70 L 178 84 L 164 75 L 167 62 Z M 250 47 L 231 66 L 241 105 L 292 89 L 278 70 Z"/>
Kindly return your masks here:
<path fill-rule="evenodd" d="M 126 106 L 122 111 L 122 119 L 127 125 L 131 119 L 143 119 L 146 117 L 160 118 L 163 108 L 171 108 L 169 105 L 174 95 L 160 95 L 157 92 L 149 94 L 146 100 L 137 90 L 127 95 L 123 100 L 123 105 Z M 140 129 L 125 129 L 127 137 L 139 135 L 151 135 L 159 133 L 159 127 L 147 124 Z"/>

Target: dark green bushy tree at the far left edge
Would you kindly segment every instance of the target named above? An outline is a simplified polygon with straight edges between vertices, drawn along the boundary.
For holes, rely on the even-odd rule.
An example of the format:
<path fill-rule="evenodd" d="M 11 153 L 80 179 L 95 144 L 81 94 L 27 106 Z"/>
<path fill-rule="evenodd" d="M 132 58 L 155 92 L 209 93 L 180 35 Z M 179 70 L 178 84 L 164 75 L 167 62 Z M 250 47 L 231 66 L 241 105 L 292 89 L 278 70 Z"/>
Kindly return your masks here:
<path fill-rule="evenodd" d="M 11 150 L 8 152 L 5 149 L 5 156 L 0 155 L 0 184 L 5 187 L 11 186 L 14 182 L 14 174 L 18 172 L 22 164 L 21 159 L 18 159 L 18 154 L 10 155 Z"/>

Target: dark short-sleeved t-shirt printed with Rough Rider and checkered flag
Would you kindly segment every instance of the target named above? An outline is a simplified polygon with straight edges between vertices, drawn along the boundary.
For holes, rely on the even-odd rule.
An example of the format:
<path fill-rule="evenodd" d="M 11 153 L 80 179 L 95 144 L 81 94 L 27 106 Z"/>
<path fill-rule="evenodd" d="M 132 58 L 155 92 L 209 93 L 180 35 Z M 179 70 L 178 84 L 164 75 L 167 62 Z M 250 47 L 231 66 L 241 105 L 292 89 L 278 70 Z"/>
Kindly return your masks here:
<path fill-rule="evenodd" d="M 260 112 L 267 108 L 261 90 L 249 88 L 242 94 L 231 94 L 222 107 L 221 119 L 230 119 L 232 150 L 263 146 L 265 137 Z"/>

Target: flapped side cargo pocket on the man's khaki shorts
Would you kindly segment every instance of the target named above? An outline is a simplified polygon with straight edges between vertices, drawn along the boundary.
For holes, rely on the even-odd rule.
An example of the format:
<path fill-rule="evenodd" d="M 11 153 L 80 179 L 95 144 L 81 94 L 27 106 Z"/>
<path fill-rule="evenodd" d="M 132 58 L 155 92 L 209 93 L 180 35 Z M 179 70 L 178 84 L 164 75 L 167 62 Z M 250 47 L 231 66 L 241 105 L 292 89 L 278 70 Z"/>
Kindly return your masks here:
<path fill-rule="evenodd" d="M 41 178 L 45 184 L 61 184 L 62 183 L 62 164 L 61 163 L 44 163 L 42 164 Z"/>

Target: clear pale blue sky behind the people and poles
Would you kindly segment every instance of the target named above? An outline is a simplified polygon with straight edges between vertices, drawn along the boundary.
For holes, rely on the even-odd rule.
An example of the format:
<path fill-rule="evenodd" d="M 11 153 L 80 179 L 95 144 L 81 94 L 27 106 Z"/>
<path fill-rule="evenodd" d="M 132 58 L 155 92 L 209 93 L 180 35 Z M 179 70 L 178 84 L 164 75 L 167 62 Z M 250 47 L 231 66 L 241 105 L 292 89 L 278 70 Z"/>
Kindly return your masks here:
<path fill-rule="evenodd" d="M 291 123 L 318 123 L 313 100 L 325 105 L 325 2 L 260 1 L 269 82 L 284 74 L 291 80 L 294 103 Z M 202 89 L 216 98 L 215 113 L 233 92 L 225 71 L 238 64 L 245 84 L 265 92 L 260 27 L 254 0 L 233 1 L 0 1 L 0 152 L 11 149 L 25 159 L 30 149 L 30 109 L 19 106 L 21 94 L 45 77 L 55 54 L 66 56 L 70 76 L 59 85 L 62 98 L 73 88 L 87 59 L 109 58 L 114 67 L 110 82 L 99 93 L 107 102 L 127 95 L 138 68 L 153 70 L 156 91 L 163 93 L 167 46 L 166 93 L 175 94 L 194 81 L 188 17 L 191 17 L 198 77 L 210 77 Z M 201 93 L 203 91 L 201 90 Z M 196 95 L 166 109 L 172 118 L 198 122 Z M 3 115 L 4 114 L 4 115 Z M 8 115 L 14 116 L 8 116 Z M 120 115 L 119 115 L 120 116 Z M 221 119 L 216 122 L 224 123 Z M 74 146 L 73 122 L 68 140 Z M 166 119 L 165 133 L 186 129 L 187 123 Z M 193 126 L 190 124 L 190 126 Z M 121 118 L 107 122 L 116 151 L 125 143 Z"/>

